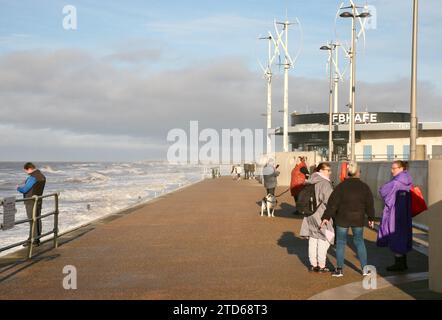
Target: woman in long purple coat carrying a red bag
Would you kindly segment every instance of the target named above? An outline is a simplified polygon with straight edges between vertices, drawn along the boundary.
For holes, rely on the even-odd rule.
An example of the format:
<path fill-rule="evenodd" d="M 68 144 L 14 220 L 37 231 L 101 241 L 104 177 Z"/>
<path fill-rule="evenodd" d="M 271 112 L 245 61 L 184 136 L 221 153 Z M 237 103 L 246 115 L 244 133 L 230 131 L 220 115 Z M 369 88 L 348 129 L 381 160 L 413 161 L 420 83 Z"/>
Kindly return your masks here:
<path fill-rule="evenodd" d="M 388 271 L 405 271 L 408 269 L 406 254 L 412 249 L 412 179 L 404 161 L 394 161 L 391 173 L 393 178 L 379 189 L 385 207 L 377 245 L 389 247 L 395 254 L 395 263 Z"/>

